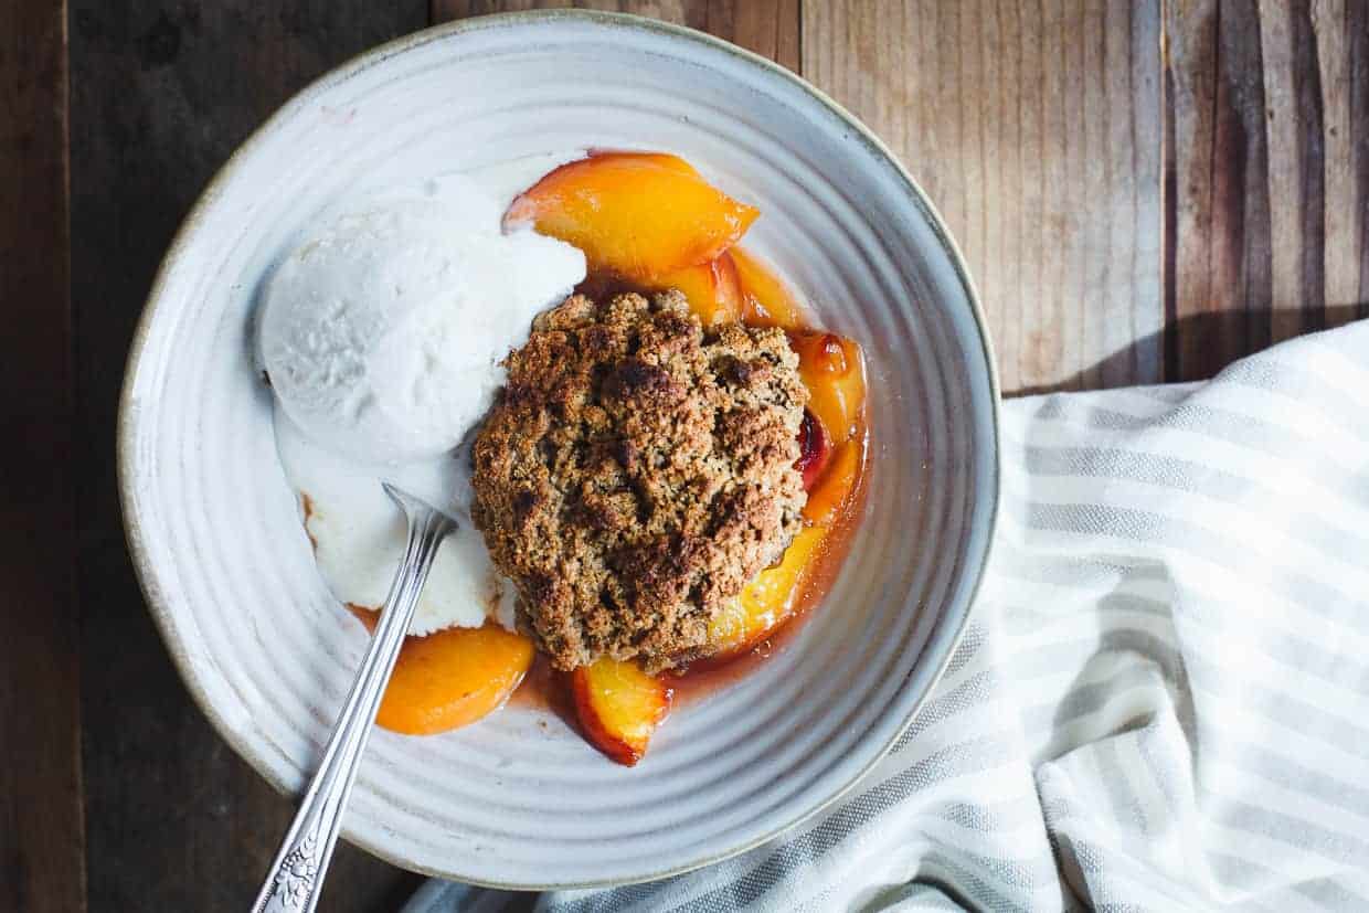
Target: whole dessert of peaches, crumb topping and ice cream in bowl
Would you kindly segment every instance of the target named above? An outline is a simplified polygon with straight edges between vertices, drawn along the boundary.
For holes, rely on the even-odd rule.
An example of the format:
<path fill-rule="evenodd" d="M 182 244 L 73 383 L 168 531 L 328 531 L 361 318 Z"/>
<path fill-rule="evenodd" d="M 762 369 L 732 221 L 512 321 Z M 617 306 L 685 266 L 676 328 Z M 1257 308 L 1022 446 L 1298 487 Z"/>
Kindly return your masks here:
<path fill-rule="evenodd" d="M 512 200 L 485 192 L 519 172 Z M 865 491 L 864 359 L 739 246 L 760 212 L 687 162 L 496 174 L 342 201 L 304 233 L 257 320 L 277 442 L 324 580 L 368 626 L 405 539 L 382 479 L 465 519 L 381 725 L 498 710 L 535 647 L 564 675 L 533 680 L 632 765 L 695 669 L 768 654 L 832 579 Z"/>

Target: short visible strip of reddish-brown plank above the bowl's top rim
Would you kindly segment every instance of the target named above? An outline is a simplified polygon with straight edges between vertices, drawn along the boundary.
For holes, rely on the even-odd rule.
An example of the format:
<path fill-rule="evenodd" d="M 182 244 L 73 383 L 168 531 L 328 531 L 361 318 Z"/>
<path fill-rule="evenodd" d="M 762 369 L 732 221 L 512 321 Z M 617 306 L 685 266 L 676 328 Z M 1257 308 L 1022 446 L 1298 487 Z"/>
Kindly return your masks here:
<path fill-rule="evenodd" d="M 433 22 L 580 7 L 632 12 L 708 31 L 784 64 L 799 66 L 799 0 L 433 0 Z"/>

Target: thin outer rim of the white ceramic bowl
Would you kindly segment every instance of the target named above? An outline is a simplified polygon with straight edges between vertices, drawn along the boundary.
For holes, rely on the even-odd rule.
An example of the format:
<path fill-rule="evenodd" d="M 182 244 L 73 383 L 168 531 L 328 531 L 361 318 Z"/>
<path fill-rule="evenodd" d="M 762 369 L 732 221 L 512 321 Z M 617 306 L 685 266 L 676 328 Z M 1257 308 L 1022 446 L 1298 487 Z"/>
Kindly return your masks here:
<path fill-rule="evenodd" d="M 954 270 L 956 278 L 965 292 L 967 301 L 969 304 L 971 318 L 975 322 L 975 329 L 977 330 L 977 338 L 983 349 L 984 364 L 987 365 L 987 381 L 990 386 L 990 424 L 993 428 L 993 453 L 990 465 L 990 482 L 988 491 L 984 497 L 988 498 L 988 527 L 986 530 L 987 542 L 984 546 L 983 556 L 975 565 L 967 565 L 965 574 L 969 578 L 969 594 L 968 594 L 968 608 L 965 613 L 956 623 L 956 630 L 951 632 L 950 641 L 947 643 L 945 656 L 938 661 L 938 667 L 932 671 L 931 679 L 928 680 L 925 691 L 913 702 L 912 708 L 908 710 L 905 719 L 899 723 L 898 728 L 893 732 L 888 742 L 871 757 L 869 762 L 862 767 L 856 775 L 850 777 L 841 788 L 835 790 L 831 795 L 826 797 L 823 801 L 812 805 L 806 810 L 791 816 L 787 820 L 773 823 L 768 825 L 763 835 L 750 839 L 747 842 L 739 843 L 737 846 L 728 847 L 723 851 L 713 853 L 705 858 L 691 860 L 683 865 L 664 866 L 650 875 L 634 879 L 631 882 L 624 882 L 622 879 L 598 879 L 587 882 L 567 882 L 567 883 L 505 883 L 505 882 L 487 882 L 478 877 L 471 877 L 460 875 L 456 872 L 441 872 L 431 869 L 424 865 L 418 865 L 409 860 L 401 858 L 398 854 L 390 851 L 387 847 L 360 838 L 349 831 L 344 825 L 341 836 L 357 846 L 367 853 L 409 872 L 418 872 L 430 877 L 441 877 L 448 880 L 459 880 L 465 884 L 474 884 L 486 888 L 498 888 L 509 891 L 554 891 L 554 890 L 576 890 L 576 888 L 611 888 L 620 887 L 624 884 L 643 884 L 649 882 L 657 882 L 661 879 L 672 877 L 676 875 L 683 875 L 686 872 L 693 872 L 709 865 L 716 865 L 732 857 L 741 856 L 747 850 L 756 849 L 757 846 L 767 843 L 776 836 L 798 827 L 804 821 L 808 821 L 824 810 L 832 808 L 836 802 L 846 798 L 852 790 L 865 777 L 869 771 L 879 764 L 888 753 L 893 750 L 894 745 L 904 736 L 908 728 L 912 725 L 917 713 L 921 710 L 923 705 L 931 697 L 931 693 L 936 689 L 942 676 L 946 672 L 946 667 L 950 664 L 951 656 L 954 656 L 961 638 L 965 634 L 965 628 L 969 624 L 969 617 L 973 612 L 973 606 L 977 601 L 980 589 L 984 580 L 984 571 L 988 567 L 988 561 L 993 557 L 995 531 L 998 527 L 998 513 L 1002 489 L 1002 427 L 1001 427 L 1001 389 L 998 379 L 998 361 L 994 355 L 993 342 L 988 334 L 988 320 L 984 315 L 983 304 L 979 297 L 979 290 L 975 286 L 973 278 L 969 274 L 969 268 L 965 264 L 964 255 L 960 246 L 956 244 L 954 237 L 946 227 L 946 223 L 932 204 L 931 198 L 923 190 L 921 185 L 917 183 L 916 178 L 908 171 L 898 156 L 880 140 L 873 130 L 867 127 L 860 119 L 856 118 L 850 111 L 841 105 L 836 100 L 828 96 L 826 92 L 806 81 L 797 73 L 775 63 L 773 60 L 764 57 L 758 53 L 741 48 L 730 41 L 719 38 L 716 36 L 700 31 L 697 29 L 690 29 L 687 26 L 675 25 L 671 22 L 663 22 L 660 19 L 650 19 L 646 16 L 626 14 L 626 12 L 606 12 L 597 10 L 528 10 L 519 12 L 502 12 L 494 15 L 472 16 L 465 19 L 456 19 L 452 22 L 438 23 L 412 31 L 397 38 L 392 38 L 383 44 L 375 45 L 367 51 L 363 51 L 350 59 L 331 67 L 322 75 L 312 79 L 303 89 L 297 90 L 285 103 L 282 103 L 266 120 L 263 120 L 257 127 L 252 130 L 251 134 L 233 151 L 227 160 L 215 171 L 214 177 L 200 192 L 196 198 L 194 205 L 186 214 L 181 226 L 172 235 L 171 244 L 167 246 L 167 252 L 162 257 L 162 263 L 157 267 L 156 277 L 148 292 L 146 301 L 142 307 L 142 313 L 138 318 L 138 323 L 134 329 L 133 339 L 129 346 L 129 356 L 125 363 L 123 383 L 119 393 L 119 408 L 116 417 L 116 439 L 115 439 L 115 460 L 118 467 L 118 489 L 119 489 L 119 508 L 123 519 L 123 532 L 125 542 L 127 545 L 129 556 L 133 561 L 134 575 L 138 580 L 138 587 L 142 591 L 144 602 L 148 606 L 148 612 L 152 615 L 155 627 L 157 630 L 162 642 L 166 645 L 167 652 L 171 654 L 172 664 L 181 676 L 182 683 L 190 693 L 192 699 L 200 712 L 209 720 L 209 724 L 218 732 L 219 738 L 229 743 L 229 746 L 248 762 L 248 765 L 256 771 L 256 773 L 271 784 L 277 793 L 294 798 L 296 793 L 289 784 L 278 779 L 272 771 L 256 756 L 252 747 L 248 745 L 246 739 L 238 736 L 233 727 L 223 719 L 223 716 L 214 706 L 208 693 L 204 690 L 199 680 L 199 673 L 196 672 L 194 663 L 192 661 L 189 652 L 181 645 L 175 638 L 175 621 L 170 602 L 163 597 L 160 587 L 157 586 L 156 571 L 153 568 L 152 557 L 144 543 L 142 527 L 137 511 L 137 498 L 134 497 L 136 487 L 136 441 L 138 434 L 138 409 L 134 401 L 134 381 L 140 372 L 141 361 L 144 357 L 144 350 L 146 348 L 148 338 L 152 333 L 152 324 L 157 319 L 159 312 L 163 308 L 163 292 L 168 281 L 168 275 L 181 259 L 185 249 L 190 245 L 199 223 L 203 220 L 204 214 L 215 203 L 223 190 L 223 186 L 229 182 L 233 174 L 237 171 L 238 163 L 245 159 L 257 145 L 264 142 L 266 137 L 281 127 L 289 116 L 300 107 L 307 104 L 315 96 L 323 93 L 324 90 L 340 85 L 355 75 L 375 67 L 389 57 L 402 53 L 405 51 L 423 47 L 434 41 L 442 41 L 452 38 L 455 36 L 461 36 L 467 33 L 483 31 L 487 29 L 501 29 L 509 26 L 530 26 L 539 23 L 559 23 L 559 22 L 580 22 L 593 23 L 598 26 L 612 26 L 622 27 L 635 31 L 646 31 L 654 36 L 663 36 L 674 41 L 687 41 L 694 45 L 702 45 L 712 51 L 724 52 L 752 67 L 757 67 L 767 75 L 772 78 L 779 78 L 789 82 L 802 90 L 805 94 L 810 96 L 821 107 L 827 108 L 838 119 L 841 119 L 852 131 L 852 136 L 857 138 L 868 152 L 871 152 L 876 159 L 882 159 L 890 164 L 898 177 L 898 179 L 905 185 L 904 189 L 908 192 L 908 203 L 910 203 L 919 214 L 927 219 L 932 234 L 941 244 L 945 253 L 950 257 L 950 264 Z M 312 776 L 305 772 L 307 779 Z"/>

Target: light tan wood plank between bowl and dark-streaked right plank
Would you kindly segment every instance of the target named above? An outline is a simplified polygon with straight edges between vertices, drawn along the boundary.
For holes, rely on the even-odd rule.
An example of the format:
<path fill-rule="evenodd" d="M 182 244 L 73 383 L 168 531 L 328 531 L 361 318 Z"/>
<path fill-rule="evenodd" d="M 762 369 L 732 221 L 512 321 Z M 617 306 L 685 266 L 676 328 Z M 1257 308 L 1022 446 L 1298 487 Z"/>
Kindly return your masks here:
<path fill-rule="evenodd" d="M 1160 4 L 804 4 L 804 75 L 960 241 L 1003 390 L 1161 378 Z"/>

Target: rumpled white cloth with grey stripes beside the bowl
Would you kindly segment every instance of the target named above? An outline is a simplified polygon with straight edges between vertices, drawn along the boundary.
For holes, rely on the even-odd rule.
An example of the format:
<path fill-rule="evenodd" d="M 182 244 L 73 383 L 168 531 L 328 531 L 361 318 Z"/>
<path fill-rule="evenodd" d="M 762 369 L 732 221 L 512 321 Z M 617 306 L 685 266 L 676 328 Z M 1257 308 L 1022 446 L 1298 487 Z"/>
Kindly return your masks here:
<path fill-rule="evenodd" d="M 743 856 L 537 908 L 1369 909 L 1369 322 L 1006 402 L 988 579 L 894 751 Z"/>

